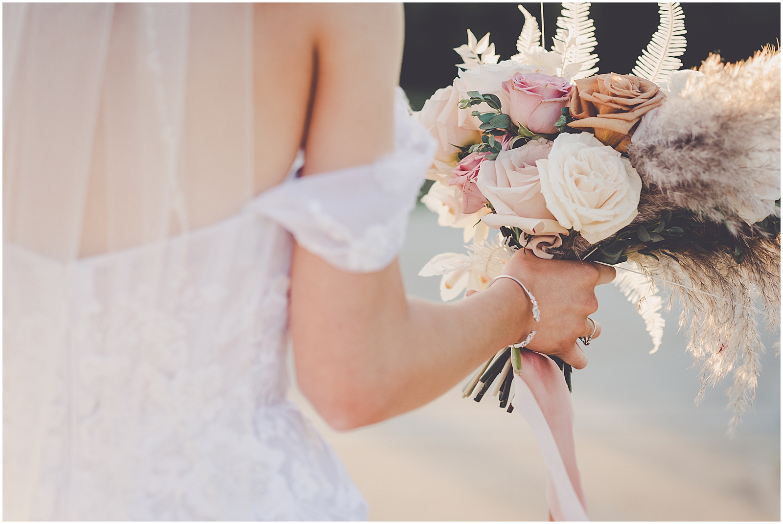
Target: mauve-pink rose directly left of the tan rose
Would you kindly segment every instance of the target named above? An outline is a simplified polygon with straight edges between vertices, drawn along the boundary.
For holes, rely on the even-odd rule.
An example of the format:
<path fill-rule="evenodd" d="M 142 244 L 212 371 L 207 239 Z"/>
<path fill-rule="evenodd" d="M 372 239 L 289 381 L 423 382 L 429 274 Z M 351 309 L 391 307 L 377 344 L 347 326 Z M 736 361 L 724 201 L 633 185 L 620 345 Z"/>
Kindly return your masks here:
<path fill-rule="evenodd" d="M 511 97 L 509 116 L 514 124 L 524 125 L 534 133 L 556 133 L 554 123 L 568 106 L 571 86 L 565 78 L 541 73 L 517 73 L 503 82 Z"/>

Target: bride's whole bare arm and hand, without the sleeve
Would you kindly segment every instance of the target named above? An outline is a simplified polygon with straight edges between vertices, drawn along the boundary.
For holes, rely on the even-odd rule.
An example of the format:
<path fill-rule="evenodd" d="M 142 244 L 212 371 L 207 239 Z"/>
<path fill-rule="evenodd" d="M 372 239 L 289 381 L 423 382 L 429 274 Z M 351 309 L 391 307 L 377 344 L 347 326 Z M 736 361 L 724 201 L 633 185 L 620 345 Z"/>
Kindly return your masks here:
<path fill-rule="evenodd" d="M 402 9 L 333 5 L 327 11 L 316 38 L 305 175 L 369 163 L 392 145 Z M 599 269 L 518 254 L 507 272 L 539 299 L 543 318 L 535 327 L 528 298 L 511 280 L 460 302 L 434 304 L 406 298 L 396 262 L 351 274 L 296 246 L 290 325 L 302 391 L 334 428 L 373 424 L 435 399 L 532 328 L 539 331 L 534 349 L 583 367 L 575 341 L 590 332 L 585 318 L 597 309 Z"/>

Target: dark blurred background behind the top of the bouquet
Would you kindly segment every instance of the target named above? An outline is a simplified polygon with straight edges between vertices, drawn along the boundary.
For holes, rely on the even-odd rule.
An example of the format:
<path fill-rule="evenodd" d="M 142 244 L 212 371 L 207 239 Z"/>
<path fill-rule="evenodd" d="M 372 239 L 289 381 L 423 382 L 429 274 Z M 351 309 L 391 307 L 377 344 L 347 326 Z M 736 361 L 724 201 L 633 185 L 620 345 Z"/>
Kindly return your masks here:
<path fill-rule="evenodd" d="M 500 60 L 517 53 L 517 38 L 525 22 L 518 2 L 410 3 L 405 4 L 405 51 L 400 85 L 419 110 L 436 89 L 451 84 L 454 64 L 461 63 L 453 48 L 467 43 L 467 29 L 476 38 L 491 33 Z M 541 4 L 521 2 L 541 26 Z M 778 45 L 780 2 L 681 3 L 685 13 L 687 50 L 680 60 L 685 69 L 698 67 L 710 52 L 728 62 L 745 60 L 763 45 Z M 561 5 L 543 4 L 547 49 L 557 30 Z M 598 74 L 627 74 L 658 28 L 658 4 L 653 2 L 601 2 L 590 5 L 594 20 Z"/>

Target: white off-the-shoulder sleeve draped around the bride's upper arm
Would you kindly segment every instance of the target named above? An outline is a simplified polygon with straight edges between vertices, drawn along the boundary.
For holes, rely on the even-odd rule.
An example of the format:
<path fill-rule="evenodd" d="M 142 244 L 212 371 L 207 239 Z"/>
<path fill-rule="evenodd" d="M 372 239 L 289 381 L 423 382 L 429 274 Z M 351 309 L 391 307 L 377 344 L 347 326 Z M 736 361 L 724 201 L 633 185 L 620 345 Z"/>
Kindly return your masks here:
<path fill-rule="evenodd" d="M 373 164 L 290 179 L 249 205 L 332 266 L 352 273 L 380 271 L 402 248 L 434 151 L 434 139 L 410 117 L 398 88 L 391 154 Z"/>

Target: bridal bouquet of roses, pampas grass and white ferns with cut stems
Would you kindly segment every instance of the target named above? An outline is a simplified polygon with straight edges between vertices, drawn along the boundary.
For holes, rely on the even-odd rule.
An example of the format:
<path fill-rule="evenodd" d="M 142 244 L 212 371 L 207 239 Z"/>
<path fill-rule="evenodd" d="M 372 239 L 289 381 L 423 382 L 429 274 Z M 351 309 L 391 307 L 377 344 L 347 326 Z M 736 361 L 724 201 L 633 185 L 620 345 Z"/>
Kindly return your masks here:
<path fill-rule="evenodd" d="M 763 351 L 756 314 L 779 326 L 780 55 L 764 49 L 736 64 L 710 55 L 698 71 L 680 70 L 684 13 L 662 3 L 631 74 L 595 74 L 590 4 L 563 5 L 550 51 L 521 5 L 511 60 L 498 61 L 489 34 L 478 41 L 467 31 L 453 85 L 417 114 L 439 144 L 421 200 L 472 241 L 420 275 L 441 275 L 449 300 L 485 289 L 516 249 L 616 265 L 652 352 L 664 324 L 655 279 L 684 302 L 700 395 L 734 370 L 734 425 L 752 402 Z M 500 377 L 505 406 L 511 369 L 500 356 L 466 396 L 478 383 L 481 399 Z"/>

